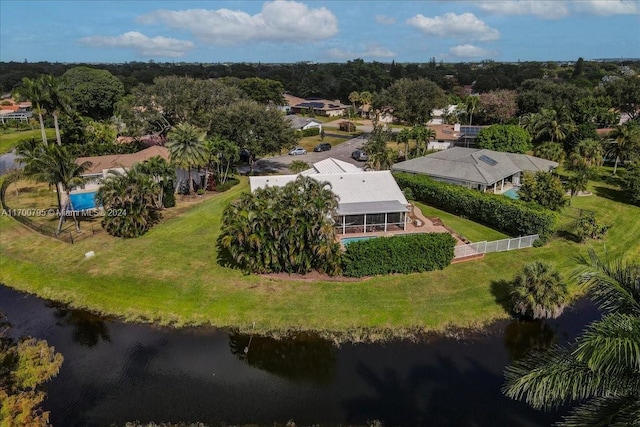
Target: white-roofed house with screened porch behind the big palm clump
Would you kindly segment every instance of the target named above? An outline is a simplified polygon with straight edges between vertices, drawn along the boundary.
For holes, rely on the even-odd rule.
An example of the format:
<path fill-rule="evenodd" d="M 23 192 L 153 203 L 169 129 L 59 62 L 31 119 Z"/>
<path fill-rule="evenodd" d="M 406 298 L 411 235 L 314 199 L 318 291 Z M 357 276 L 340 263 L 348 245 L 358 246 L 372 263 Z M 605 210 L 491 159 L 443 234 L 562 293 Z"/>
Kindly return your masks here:
<path fill-rule="evenodd" d="M 409 203 L 390 171 L 364 172 L 335 159 L 323 162 L 303 173 L 320 182 L 328 182 L 331 191 L 338 196 L 338 209 L 333 217 L 337 233 L 406 230 Z M 251 191 L 268 186 L 282 187 L 297 176 L 252 176 L 249 177 Z"/>

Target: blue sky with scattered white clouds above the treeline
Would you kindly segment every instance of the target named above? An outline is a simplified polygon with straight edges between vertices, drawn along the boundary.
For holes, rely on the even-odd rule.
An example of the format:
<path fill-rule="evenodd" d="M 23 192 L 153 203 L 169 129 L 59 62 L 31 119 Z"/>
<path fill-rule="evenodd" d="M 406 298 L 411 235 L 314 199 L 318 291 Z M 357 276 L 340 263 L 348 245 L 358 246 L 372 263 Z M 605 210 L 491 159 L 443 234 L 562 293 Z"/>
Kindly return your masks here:
<path fill-rule="evenodd" d="M 640 1 L 0 1 L 0 61 L 640 57 Z"/>

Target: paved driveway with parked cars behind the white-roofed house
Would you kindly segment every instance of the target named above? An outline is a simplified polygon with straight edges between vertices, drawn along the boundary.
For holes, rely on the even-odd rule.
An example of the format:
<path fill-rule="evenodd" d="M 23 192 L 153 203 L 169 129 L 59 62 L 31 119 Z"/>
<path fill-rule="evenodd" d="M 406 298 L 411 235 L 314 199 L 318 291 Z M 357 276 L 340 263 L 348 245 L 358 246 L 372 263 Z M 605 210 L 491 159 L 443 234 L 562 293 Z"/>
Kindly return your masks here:
<path fill-rule="evenodd" d="M 351 152 L 356 148 L 360 148 L 366 139 L 364 137 L 357 137 L 338 145 L 334 145 L 329 151 L 321 151 L 319 153 L 308 152 L 299 156 L 273 156 L 265 157 L 257 160 L 253 165 L 253 170 L 259 173 L 291 173 L 289 170 L 289 164 L 294 160 L 301 160 L 307 162 L 309 167 L 314 163 L 319 162 L 329 157 L 334 159 L 349 162 L 359 167 L 364 166 L 364 162 L 357 162 L 351 158 Z M 249 170 L 249 166 L 242 166 L 238 168 L 238 172 L 246 173 Z"/>

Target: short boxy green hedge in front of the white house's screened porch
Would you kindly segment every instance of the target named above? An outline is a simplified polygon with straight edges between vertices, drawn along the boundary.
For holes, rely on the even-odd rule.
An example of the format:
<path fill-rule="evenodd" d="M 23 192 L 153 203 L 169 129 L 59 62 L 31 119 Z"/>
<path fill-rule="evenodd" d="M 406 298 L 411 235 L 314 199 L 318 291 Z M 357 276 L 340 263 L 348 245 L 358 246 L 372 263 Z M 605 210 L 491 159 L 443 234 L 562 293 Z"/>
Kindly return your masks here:
<path fill-rule="evenodd" d="M 456 240 L 449 233 L 407 234 L 351 242 L 342 256 L 345 276 L 442 270 L 451 264 Z"/>

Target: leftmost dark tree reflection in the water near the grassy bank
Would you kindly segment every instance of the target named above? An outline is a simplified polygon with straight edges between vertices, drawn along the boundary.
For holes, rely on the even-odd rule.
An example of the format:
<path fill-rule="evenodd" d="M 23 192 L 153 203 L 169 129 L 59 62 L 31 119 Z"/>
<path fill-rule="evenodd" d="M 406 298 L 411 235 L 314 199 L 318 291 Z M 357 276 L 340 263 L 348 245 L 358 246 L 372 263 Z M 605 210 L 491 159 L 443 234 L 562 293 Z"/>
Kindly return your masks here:
<path fill-rule="evenodd" d="M 46 306 L 54 310 L 58 326 L 73 328 L 73 340 L 85 347 L 94 347 L 101 340 L 111 342 L 109 328 L 105 318 L 84 310 L 74 310 L 64 304 L 47 302 Z"/>

